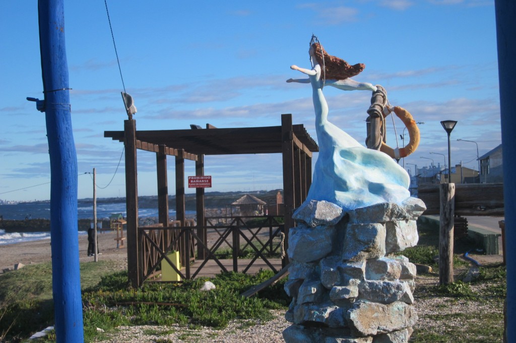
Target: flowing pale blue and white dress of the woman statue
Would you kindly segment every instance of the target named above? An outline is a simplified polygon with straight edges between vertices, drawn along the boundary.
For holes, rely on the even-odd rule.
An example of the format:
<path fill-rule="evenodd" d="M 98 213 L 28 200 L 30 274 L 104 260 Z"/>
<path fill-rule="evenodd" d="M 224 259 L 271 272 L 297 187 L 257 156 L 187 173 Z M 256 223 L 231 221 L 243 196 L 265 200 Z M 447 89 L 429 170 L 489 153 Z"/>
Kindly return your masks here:
<path fill-rule="evenodd" d="M 400 204 L 410 197 L 407 172 L 388 155 L 365 148 L 328 121 L 320 66 L 309 75 L 313 89 L 319 155 L 307 201 L 326 200 L 351 210 L 377 203 Z"/>

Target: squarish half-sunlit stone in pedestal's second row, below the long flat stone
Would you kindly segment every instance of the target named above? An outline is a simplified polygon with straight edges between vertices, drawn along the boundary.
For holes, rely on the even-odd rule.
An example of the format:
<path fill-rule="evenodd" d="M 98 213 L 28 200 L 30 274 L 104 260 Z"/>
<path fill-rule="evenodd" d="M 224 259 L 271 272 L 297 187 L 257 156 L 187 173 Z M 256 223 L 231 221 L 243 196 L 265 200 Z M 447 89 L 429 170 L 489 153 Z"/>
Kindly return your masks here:
<path fill-rule="evenodd" d="M 385 226 L 381 223 L 348 224 L 344 235 L 343 260 L 352 262 L 385 255 Z"/>

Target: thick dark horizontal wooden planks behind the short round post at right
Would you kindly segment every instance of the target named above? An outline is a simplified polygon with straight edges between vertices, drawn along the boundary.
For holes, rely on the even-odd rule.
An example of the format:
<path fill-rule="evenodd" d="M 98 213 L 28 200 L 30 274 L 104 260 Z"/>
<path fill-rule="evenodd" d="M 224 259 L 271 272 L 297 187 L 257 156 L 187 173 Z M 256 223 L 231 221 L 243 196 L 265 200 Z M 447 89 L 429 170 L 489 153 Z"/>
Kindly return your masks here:
<path fill-rule="evenodd" d="M 439 185 L 422 184 L 418 198 L 425 215 L 439 214 Z M 455 214 L 459 216 L 504 216 L 503 184 L 455 184 Z"/>

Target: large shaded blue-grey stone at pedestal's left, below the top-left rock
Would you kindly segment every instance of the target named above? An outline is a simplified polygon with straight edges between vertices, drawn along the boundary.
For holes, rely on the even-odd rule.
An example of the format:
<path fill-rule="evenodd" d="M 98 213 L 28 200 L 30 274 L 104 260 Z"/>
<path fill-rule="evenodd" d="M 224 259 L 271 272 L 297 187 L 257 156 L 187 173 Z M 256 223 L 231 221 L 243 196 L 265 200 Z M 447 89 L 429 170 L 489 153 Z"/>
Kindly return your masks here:
<path fill-rule="evenodd" d="M 312 262 L 328 255 L 335 238 L 335 226 L 291 228 L 288 237 L 288 257 L 296 262 Z"/>

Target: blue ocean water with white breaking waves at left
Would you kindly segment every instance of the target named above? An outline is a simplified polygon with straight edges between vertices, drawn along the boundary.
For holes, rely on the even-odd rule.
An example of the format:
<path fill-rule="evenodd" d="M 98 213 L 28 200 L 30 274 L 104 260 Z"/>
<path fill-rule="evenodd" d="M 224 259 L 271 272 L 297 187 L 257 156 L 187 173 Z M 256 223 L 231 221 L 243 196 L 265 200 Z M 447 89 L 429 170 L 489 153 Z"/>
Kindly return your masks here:
<path fill-rule="evenodd" d="M 97 219 L 108 219 L 111 215 L 126 216 L 125 203 L 100 203 L 96 208 Z M 187 215 L 195 211 L 186 211 Z M 6 220 L 50 219 L 50 202 L 20 203 L 0 205 L 0 215 Z M 157 208 L 138 208 L 138 217 L 157 217 Z M 175 210 L 169 210 L 170 218 L 175 217 Z M 93 203 L 79 201 L 77 204 L 77 219 L 93 219 Z M 1 225 L 0 225 L 1 227 Z M 79 231 L 79 235 L 86 232 Z M 50 239 L 50 232 L 6 233 L 0 228 L 0 245 L 25 242 L 31 240 Z"/>

